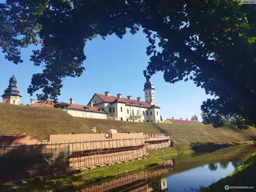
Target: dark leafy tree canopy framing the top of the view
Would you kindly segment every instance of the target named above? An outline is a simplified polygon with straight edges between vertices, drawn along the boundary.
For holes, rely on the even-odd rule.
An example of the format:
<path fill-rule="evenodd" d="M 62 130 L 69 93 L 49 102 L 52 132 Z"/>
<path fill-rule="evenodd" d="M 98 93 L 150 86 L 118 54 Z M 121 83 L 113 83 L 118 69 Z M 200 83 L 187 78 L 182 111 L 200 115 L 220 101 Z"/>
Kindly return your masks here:
<path fill-rule="evenodd" d="M 215 127 L 225 115 L 246 128 L 256 124 L 255 5 L 199 0 L 7 0 L 0 4 L 0 45 L 6 59 L 22 63 L 20 49 L 40 45 L 31 61 L 28 93 L 60 95 L 65 77 L 79 77 L 84 46 L 96 36 L 119 38 L 139 29 L 150 56 L 144 75 L 164 72 L 169 83 L 189 79 L 207 94 L 201 108 Z M 159 42 L 156 44 L 156 42 Z M 157 51 L 157 46 L 161 51 Z"/>

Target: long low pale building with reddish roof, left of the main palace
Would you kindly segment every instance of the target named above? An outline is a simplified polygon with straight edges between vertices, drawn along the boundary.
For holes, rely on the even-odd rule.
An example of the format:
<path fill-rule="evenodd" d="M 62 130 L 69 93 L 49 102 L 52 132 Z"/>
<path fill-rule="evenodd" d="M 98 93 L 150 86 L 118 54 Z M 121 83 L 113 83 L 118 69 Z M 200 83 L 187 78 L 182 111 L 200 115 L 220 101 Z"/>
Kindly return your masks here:
<path fill-rule="evenodd" d="M 84 106 L 80 104 L 74 104 L 74 98 L 70 99 L 70 102 L 53 102 L 52 100 L 40 100 L 35 102 L 35 99 L 31 99 L 31 107 L 45 107 L 45 108 L 59 108 L 66 111 L 68 114 L 77 117 L 84 118 L 102 118 L 106 119 L 106 111 L 102 108 L 91 106 Z"/>

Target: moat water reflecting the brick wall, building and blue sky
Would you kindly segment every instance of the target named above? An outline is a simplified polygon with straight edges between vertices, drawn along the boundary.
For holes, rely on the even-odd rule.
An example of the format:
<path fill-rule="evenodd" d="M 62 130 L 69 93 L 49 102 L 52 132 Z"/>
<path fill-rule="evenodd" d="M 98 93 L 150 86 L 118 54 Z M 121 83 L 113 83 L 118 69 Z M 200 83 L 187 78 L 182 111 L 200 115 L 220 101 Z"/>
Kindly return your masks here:
<path fill-rule="evenodd" d="M 234 172 L 255 152 L 255 146 L 241 145 L 211 153 L 171 156 L 150 170 L 81 186 L 78 191 L 195 191 Z"/>

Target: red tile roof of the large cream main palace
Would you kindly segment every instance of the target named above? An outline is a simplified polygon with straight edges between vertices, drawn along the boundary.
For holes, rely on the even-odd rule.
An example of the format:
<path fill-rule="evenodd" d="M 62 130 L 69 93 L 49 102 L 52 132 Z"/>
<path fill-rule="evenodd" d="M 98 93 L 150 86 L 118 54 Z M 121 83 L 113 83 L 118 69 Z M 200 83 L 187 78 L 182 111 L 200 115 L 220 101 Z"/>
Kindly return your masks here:
<path fill-rule="evenodd" d="M 151 105 L 148 102 L 145 101 L 139 101 L 135 99 L 126 99 L 126 98 L 118 98 L 115 96 L 107 96 L 99 93 L 95 93 L 100 99 L 102 99 L 104 102 L 123 102 L 127 106 L 136 106 L 136 107 L 143 107 L 143 108 L 159 108 L 156 105 Z M 134 104 L 132 104 L 132 102 Z"/>

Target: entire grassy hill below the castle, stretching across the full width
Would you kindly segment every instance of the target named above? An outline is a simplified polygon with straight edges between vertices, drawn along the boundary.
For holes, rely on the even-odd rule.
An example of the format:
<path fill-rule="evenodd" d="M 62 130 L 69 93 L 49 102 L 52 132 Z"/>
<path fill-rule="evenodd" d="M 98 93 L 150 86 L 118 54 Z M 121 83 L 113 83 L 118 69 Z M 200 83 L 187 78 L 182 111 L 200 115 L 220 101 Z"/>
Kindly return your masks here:
<path fill-rule="evenodd" d="M 209 147 L 212 143 L 221 145 L 256 138 L 256 129 L 238 131 L 231 125 L 214 129 L 211 125 L 151 124 L 77 118 L 60 109 L 0 103 L 0 134 L 26 132 L 35 135 L 38 140 L 47 140 L 50 134 L 93 133 L 90 127 L 97 127 L 97 132 L 118 129 L 121 132 L 168 133 L 177 141 L 177 146 L 185 148 L 202 146 L 202 143 Z"/>

